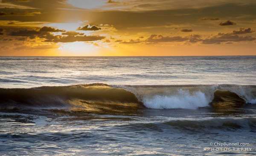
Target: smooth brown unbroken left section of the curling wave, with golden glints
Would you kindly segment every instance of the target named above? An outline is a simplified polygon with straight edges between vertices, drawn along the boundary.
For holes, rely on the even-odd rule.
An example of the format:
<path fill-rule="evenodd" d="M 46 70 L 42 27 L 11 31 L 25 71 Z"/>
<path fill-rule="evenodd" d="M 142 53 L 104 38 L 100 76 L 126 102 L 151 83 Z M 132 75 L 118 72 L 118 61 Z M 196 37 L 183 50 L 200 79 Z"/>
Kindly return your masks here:
<path fill-rule="evenodd" d="M 136 96 L 105 84 L 0 89 L 1 109 L 64 109 L 88 113 L 143 108 Z M 132 112 L 131 112 L 132 113 Z"/>

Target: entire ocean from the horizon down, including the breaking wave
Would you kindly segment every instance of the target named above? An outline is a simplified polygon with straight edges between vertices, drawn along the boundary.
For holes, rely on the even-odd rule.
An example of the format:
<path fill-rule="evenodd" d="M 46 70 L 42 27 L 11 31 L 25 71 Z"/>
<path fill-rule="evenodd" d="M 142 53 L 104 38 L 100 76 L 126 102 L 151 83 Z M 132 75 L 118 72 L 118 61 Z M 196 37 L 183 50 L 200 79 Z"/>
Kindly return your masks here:
<path fill-rule="evenodd" d="M 256 155 L 256 56 L 0 57 L 0 155 Z"/>

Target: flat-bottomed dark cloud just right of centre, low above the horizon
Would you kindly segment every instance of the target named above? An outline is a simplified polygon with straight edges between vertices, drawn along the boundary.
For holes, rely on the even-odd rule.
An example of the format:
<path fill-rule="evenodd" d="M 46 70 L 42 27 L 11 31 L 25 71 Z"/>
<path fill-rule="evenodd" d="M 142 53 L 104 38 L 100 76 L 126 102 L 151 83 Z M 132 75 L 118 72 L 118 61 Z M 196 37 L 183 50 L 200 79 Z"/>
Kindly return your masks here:
<path fill-rule="evenodd" d="M 145 40 L 145 42 L 183 42 L 186 40 L 189 40 L 188 37 L 181 37 L 181 36 L 163 37 L 162 35 L 152 34 L 150 37 L 148 37 Z"/>

